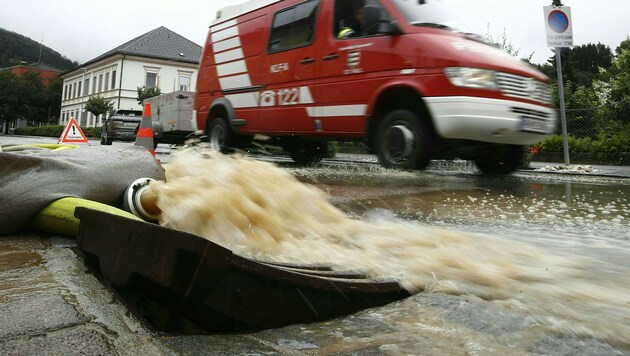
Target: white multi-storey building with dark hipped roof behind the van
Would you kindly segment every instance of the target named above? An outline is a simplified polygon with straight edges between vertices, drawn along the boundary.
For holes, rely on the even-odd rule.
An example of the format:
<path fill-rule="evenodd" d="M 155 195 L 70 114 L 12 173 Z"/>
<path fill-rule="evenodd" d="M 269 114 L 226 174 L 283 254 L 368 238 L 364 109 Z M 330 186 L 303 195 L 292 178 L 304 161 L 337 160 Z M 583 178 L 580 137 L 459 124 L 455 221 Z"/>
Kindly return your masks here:
<path fill-rule="evenodd" d="M 110 99 L 114 109 L 142 110 L 138 87 L 194 91 L 201 52 L 201 46 L 162 26 L 61 74 L 59 124 L 74 117 L 82 127 L 102 125 L 102 117 L 83 110 L 92 96 Z"/>

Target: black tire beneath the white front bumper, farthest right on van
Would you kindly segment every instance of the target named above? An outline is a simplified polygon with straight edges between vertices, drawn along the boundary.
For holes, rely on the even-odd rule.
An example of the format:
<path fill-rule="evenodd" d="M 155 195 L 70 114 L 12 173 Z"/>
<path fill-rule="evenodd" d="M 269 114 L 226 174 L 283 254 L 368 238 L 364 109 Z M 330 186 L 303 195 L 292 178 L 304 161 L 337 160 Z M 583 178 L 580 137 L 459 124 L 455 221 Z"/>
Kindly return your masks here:
<path fill-rule="evenodd" d="M 475 158 L 475 165 L 484 174 L 510 174 L 521 166 L 524 157 L 524 146 L 487 145 Z"/>

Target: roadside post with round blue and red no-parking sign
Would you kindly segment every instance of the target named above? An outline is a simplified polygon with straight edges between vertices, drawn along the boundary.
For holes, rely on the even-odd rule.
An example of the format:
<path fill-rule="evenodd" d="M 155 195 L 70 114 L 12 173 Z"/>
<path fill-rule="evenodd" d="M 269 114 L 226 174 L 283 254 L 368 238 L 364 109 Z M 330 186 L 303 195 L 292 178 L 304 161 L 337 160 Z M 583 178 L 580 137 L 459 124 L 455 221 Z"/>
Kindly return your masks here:
<path fill-rule="evenodd" d="M 569 137 L 567 133 L 567 114 L 564 108 L 564 83 L 562 81 L 562 59 L 560 49 L 573 47 L 573 23 L 571 8 L 568 6 L 545 6 L 545 24 L 547 28 L 547 46 L 554 47 L 556 52 L 556 68 L 558 70 L 558 95 L 560 96 L 560 120 L 562 122 L 562 139 L 564 148 L 564 164 L 569 161 Z"/>

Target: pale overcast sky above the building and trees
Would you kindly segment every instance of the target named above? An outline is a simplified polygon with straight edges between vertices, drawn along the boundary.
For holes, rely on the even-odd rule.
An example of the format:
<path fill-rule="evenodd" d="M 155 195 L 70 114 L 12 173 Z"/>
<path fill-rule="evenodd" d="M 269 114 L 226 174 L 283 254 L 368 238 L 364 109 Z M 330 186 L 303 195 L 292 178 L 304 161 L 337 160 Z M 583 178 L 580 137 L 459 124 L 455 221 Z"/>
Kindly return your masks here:
<path fill-rule="evenodd" d="M 481 35 L 505 29 L 520 56 L 543 63 L 547 48 L 543 6 L 551 0 L 444 0 Z M 0 27 L 79 63 L 165 26 L 203 45 L 219 7 L 242 0 L 0 0 Z M 614 50 L 630 35 L 630 0 L 563 0 L 571 7 L 575 45 L 601 42 Z"/>

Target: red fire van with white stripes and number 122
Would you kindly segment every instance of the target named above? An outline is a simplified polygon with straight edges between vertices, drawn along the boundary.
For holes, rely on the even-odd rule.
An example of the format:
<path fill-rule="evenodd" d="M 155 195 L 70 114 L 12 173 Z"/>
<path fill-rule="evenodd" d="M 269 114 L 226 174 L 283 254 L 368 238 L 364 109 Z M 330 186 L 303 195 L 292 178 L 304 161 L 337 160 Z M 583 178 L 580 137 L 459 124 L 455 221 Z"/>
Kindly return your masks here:
<path fill-rule="evenodd" d="M 510 173 L 555 129 L 549 78 L 458 30 L 443 0 L 253 0 L 221 9 L 197 125 L 222 149 L 264 138 L 298 163 L 363 141 L 385 167 L 474 160 Z"/>

